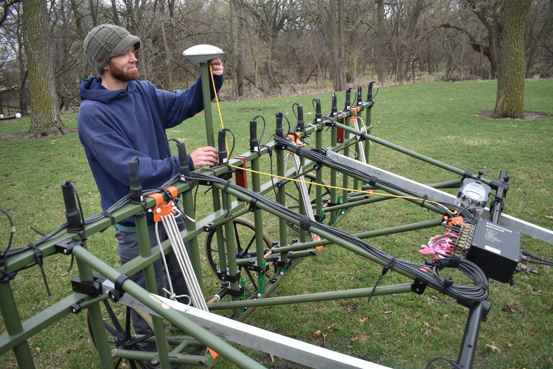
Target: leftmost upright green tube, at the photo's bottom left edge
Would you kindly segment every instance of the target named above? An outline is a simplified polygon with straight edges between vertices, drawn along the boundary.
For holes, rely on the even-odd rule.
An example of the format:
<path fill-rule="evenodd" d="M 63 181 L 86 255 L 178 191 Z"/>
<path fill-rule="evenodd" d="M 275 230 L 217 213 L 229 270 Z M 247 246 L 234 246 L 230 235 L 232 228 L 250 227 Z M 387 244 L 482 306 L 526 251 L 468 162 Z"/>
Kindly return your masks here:
<path fill-rule="evenodd" d="M 8 282 L 0 283 L 0 312 L 4 318 L 4 324 L 9 336 L 15 336 L 23 332 L 23 326 L 21 325 L 21 318 L 19 311 L 17 310 L 17 304 L 13 297 L 12 288 Z M 20 368 L 34 368 L 33 356 L 29 349 L 27 341 L 23 341 L 20 344 L 13 347 L 13 353 L 15 354 L 15 360 Z"/>

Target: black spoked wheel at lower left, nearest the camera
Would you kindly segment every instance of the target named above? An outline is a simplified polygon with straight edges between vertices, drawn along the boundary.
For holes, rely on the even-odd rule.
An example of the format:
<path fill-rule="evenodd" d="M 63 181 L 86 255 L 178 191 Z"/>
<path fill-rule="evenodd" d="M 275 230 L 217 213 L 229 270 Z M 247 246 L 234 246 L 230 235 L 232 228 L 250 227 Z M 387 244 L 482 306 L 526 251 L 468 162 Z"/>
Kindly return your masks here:
<path fill-rule="evenodd" d="M 121 325 L 119 322 L 119 318 L 116 311 L 114 311 L 109 304 L 108 300 L 103 301 L 103 305 L 105 307 L 105 311 L 102 312 L 102 315 L 105 316 L 105 313 L 107 313 L 108 318 L 104 319 L 104 327 L 106 328 L 107 334 L 108 334 L 108 345 L 114 346 L 117 349 L 122 350 L 140 350 L 138 347 L 138 343 L 144 341 L 145 339 L 148 339 L 149 337 L 152 337 L 154 335 L 153 331 L 152 333 L 145 335 L 143 337 L 135 337 L 131 333 L 131 309 L 129 306 L 126 306 L 126 312 L 124 313 L 124 326 Z M 121 305 L 123 306 L 123 305 Z M 148 313 L 144 313 L 144 311 L 134 309 L 142 319 L 148 324 L 150 328 L 152 328 L 152 316 Z M 88 316 L 88 310 L 85 312 L 85 321 L 86 321 L 86 327 L 88 329 L 88 334 L 90 334 L 90 338 L 92 340 L 92 344 L 94 347 L 96 347 L 96 339 L 94 337 L 94 333 L 92 332 L 92 324 L 90 321 L 90 316 Z M 110 340 L 112 339 L 112 340 Z M 169 349 L 169 344 L 167 344 Z M 149 366 L 145 361 L 142 360 L 132 360 L 127 359 L 129 362 L 129 366 L 132 369 L 148 369 Z M 114 368 L 119 368 L 122 362 L 122 358 L 118 358 L 117 362 L 114 364 Z"/>

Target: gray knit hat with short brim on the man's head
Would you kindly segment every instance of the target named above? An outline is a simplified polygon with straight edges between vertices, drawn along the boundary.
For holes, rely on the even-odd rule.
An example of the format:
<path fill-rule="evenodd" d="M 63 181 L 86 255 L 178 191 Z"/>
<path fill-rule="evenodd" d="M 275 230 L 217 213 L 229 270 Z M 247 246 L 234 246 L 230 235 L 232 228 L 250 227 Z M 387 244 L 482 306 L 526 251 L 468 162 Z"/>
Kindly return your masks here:
<path fill-rule="evenodd" d="M 128 30 L 114 24 L 101 24 L 88 32 L 84 48 L 88 61 L 101 75 L 109 59 L 123 54 L 133 45 L 134 50 L 140 49 L 140 39 Z"/>

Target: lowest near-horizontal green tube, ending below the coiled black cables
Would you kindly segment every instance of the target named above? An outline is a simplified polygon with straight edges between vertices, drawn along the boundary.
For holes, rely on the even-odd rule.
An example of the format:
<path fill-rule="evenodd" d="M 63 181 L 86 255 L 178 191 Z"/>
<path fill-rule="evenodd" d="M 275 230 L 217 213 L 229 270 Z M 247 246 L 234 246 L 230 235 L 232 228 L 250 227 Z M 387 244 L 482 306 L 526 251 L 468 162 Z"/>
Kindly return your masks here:
<path fill-rule="evenodd" d="M 220 302 L 208 305 L 210 310 L 234 309 L 236 306 L 240 308 L 250 308 L 253 306 L 275 306 L 286 304 L 312 303 L 317 301 L 330 301 L 341 299 L 354 299 L 359 297 L 367 297 L 371 294 L 373 287 L 346 289 L 339 291 L 328 291 L 319 293 L 307 293 L 303 295 L 291 295 L 282 297 L 266 297 L 263 299 L 253 299 L 239 302 Z M 391 295 L 397 293 L 412 292 L 411 283 L 383 285 L 375 288 L 373 296 Z"/>

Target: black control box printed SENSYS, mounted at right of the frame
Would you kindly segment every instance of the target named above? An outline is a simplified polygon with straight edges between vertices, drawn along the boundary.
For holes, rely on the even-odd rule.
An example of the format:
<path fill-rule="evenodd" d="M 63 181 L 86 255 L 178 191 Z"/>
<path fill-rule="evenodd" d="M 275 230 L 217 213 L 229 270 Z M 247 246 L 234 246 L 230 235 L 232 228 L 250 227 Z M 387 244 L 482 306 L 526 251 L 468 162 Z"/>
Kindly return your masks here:
<path fill-rule="evenodd" d="M 520 232 L 479 219 L 467 259 L 482 269 L 488 278 L 508 283 L 520 258 Z"/>

